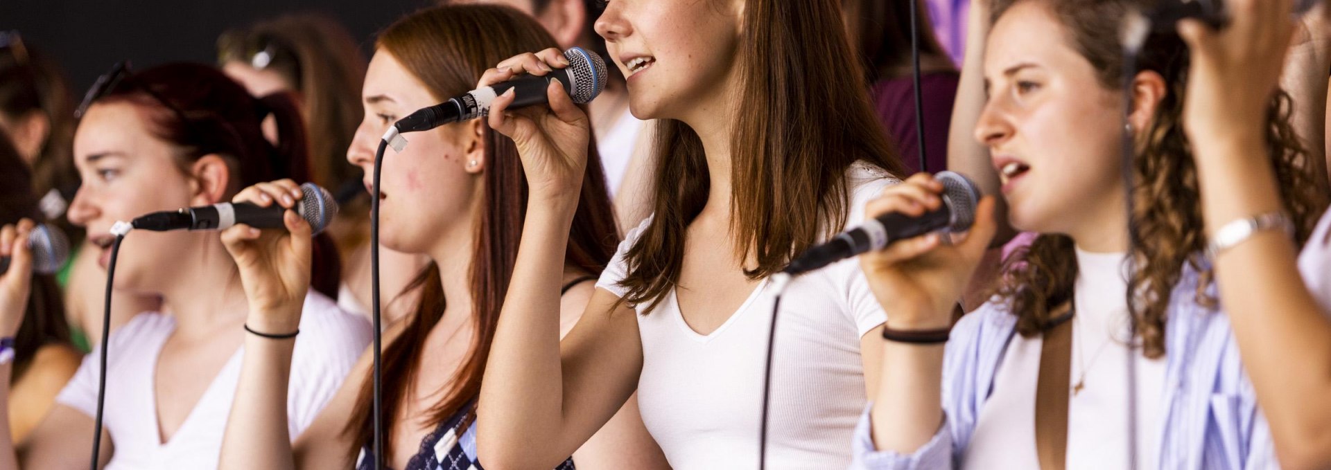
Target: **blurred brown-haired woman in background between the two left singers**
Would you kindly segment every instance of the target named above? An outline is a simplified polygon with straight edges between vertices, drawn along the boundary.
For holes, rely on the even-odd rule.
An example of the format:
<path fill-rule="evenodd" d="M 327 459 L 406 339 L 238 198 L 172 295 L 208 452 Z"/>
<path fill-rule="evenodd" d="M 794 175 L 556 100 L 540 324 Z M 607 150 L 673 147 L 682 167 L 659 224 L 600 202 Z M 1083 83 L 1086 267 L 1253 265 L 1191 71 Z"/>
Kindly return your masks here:
<path fill-rule="evenodd" d="M 310 134 L 311 177 L 331 190 L 343 208 L 327 230 L 342 256 L 338 307 L 369 316 L 370 199 L 361 185 L 361 170 L 346 161 L 346 149 L 363 116 L 357 100 L 366 64 L 359 45 L 331 17 L 294 13 L 222 33 L 217 39 L 217 61 L 253 96 L 291 92 L 301 98 Z M 265 133 L 272 134 L 268 122 Z M 379 285 L 389 299 L 383 305 L 386 325 L 410 312 L 414 293 L 399 293 L 426 262 L 425 256 L 381 250 Z"/>

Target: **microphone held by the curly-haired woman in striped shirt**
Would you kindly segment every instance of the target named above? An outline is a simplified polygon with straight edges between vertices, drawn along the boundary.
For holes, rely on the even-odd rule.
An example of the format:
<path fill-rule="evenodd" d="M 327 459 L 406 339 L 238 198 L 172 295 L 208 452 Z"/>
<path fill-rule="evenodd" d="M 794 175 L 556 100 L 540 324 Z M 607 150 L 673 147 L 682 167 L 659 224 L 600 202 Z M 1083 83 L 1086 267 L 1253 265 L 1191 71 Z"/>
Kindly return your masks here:
<path fill-rule="evenodd" d="M 792 276 L 801 275 L 937 230 L 949 232 L 970 230 L 970 224 L 976 222 L 976 204 L 980 203 L 980 190 L 976 189 L 976 183 L 952 171 L 941 171 L 934 178 L 944 187 L 940 194 L 942 207 L 920 216 L 890 212 L 865 220 L 858 228 L 841 232 L 832 240 L 809 248 L 783 272 Z"/>

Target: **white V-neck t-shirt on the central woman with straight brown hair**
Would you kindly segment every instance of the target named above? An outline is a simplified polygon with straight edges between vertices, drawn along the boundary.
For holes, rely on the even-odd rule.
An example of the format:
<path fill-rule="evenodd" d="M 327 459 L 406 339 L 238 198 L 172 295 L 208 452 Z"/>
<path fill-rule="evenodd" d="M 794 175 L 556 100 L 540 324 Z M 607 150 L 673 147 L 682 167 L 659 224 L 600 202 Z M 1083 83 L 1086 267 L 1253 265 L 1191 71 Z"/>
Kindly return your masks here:
<path fill-rule="evenodd" d="M 848 227 L 894 182 L 856 166 Z M 623 297 L 624 254 L 651 223 L 630 231 L 596 287 Z M 643 372 L 638 404 L 647 430 L 676 470 L 756 469 L 763 372 L 773 292 L 764 280 L 715 332 L 684 323 L 675 291 L 638 316 Z M 646 305 L 639 305 L 646 308 Z M 642 313 L 642 311 L 639 311 Z M 791 281 L 781 299 L 768 421 L 771 469 L 844 469 L 866 404 L 860 337 L 886 316 L 855 259 Z"/>

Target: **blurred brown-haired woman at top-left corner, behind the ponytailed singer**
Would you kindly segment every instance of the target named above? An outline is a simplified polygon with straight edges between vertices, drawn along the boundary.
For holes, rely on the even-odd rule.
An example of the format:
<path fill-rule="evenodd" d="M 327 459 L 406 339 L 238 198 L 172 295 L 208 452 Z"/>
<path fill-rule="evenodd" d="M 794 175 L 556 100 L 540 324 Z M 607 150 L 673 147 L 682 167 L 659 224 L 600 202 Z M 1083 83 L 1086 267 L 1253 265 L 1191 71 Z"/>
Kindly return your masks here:
<path fill-rule="evenodd" d="M 41 215 L 56 223 L 75 244 L 69 266 L 59 276 L 65 284 L 65 317 L 75 347 L 87 351 L 101 339 L 101 312 L 106 274 L 97 267 L 97 247 L 84 243 L 83 230 L 68 223 L 65 208 L 79 190 L 79 173 L 71 146 L 75 139 L 75 104 L 65 78 L 55 61 L 19 32 L 0 32 L 0 130 L 9 134 L 15 149 L 28 165 Z M 17 219 L 16 219 L 17 220 Z M 15 220 L 11 220 L 11 223 Z M 116 296 L 110 329 L 138 312 L 154 309 L 153 296 Z"/>

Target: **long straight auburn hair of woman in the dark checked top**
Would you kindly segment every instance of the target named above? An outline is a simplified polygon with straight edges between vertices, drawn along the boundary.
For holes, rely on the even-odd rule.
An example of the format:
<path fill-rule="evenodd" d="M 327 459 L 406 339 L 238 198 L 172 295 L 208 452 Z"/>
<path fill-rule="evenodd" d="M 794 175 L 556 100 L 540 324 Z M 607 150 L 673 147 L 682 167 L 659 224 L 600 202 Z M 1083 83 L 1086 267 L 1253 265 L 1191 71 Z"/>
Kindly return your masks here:
<path fill-rule="evenodd" d="M 379 33 L 378 40 L 379 50 L 393 54 L 441 101 L 475 88 L 480 74 L 504 58 L 551 46 L 555 46 L 554 39 L 535 20 L 516 9 L 494 5 L 426 8 L 398 20 Z M 429 410 L 429 421 L 434 424 L 447 420 L 480 390 L 527 211 L 527 179 L 518 149 L 483 122 L 482 129 L 486 143 L 484 195 L 475 220 L 476 244 L 470 267 L 471 321 L 476 335 L 457 380 L 442 390 L 443 398 Z M 568 236 L 566 263 L 595 275 L 614 256 L 619 234 L 595 141 L 588 142 L 587 153 L 587 173 Z M 398 417 L 407 398 L 421 368 L 426 337 L 443 316 L 447 301 L 439 270 L 433 263 L 407 289 L 414 288 L 421 289 L 415 312 L 403 320 L 407 325 L 402 336 L 383 351 L 382 413 L 390 422 Z M 357 442 L 355 447 L 347 449 L 349 458 L 355 457 L 359 445 L 374 438 L 370 425 L 373 389 L 367 378 L 361 378 L 363 385 L 355 410 L 343 429 Z M 391 426 L 385 433 L 385 441 L 391 442 Z M 387 457 L 377 455 L 381 459 Z"/>

